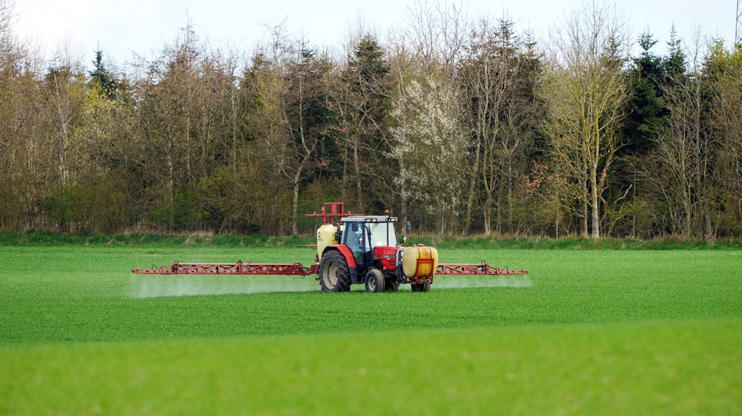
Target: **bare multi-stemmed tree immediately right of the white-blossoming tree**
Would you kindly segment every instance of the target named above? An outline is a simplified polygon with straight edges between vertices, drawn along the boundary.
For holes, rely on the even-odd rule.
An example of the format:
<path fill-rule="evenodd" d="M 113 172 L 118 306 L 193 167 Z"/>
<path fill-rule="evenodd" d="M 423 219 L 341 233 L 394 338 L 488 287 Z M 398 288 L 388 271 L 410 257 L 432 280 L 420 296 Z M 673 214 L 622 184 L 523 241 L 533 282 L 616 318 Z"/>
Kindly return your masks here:
<path fill-rule="evenodd" d="M 525 175 L 526 151 L 536 125 L 538 57 L 513 30 L 513 22 L 500 19 L 496 27 L 481 20 L 470 35 L 467 55 L 459 65 L 474 146 L 464 229 L 470 227 L 475 192 L 484 191 L 482 213 L 485 234 L 493 217 L 501 231 L 502 211 L 507 211 L 513 231 L 513 188 L 516 176 Z M 503 201 L 503 199 L 505 201 Z M 497 214 L 494 214 L 496 211 Z"/>

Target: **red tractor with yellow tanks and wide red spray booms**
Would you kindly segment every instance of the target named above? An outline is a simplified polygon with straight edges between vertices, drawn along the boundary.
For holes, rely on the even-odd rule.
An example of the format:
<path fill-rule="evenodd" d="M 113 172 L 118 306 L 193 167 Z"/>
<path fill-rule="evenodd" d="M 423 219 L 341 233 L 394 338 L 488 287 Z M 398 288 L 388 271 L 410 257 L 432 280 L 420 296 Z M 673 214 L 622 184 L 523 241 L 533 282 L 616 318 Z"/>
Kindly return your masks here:
<path fill-rule="evenodd" d="M 398 244 L 397 219 L 388 215 L 351 214 L 342 202 L 325 202 L 317 230 L 315 264 L 300 263 L 174 263 L 156 269 L 134 269 L 135 274 L 317 274 L 323 291 L 349 291 L 352 284 L 365 284 L 371 293 L 396 291 L 409 283 L 412 291 L 429 291 L 436 274 L 503 275 L 528 274 L 525 270 L 503 270 L 487 264 L 438 264 L 438 251 L 425 245 Z M 406 237 L 403 238 L 406 240 Z M 404 241 L 403 241 L 404 242 Z"/>

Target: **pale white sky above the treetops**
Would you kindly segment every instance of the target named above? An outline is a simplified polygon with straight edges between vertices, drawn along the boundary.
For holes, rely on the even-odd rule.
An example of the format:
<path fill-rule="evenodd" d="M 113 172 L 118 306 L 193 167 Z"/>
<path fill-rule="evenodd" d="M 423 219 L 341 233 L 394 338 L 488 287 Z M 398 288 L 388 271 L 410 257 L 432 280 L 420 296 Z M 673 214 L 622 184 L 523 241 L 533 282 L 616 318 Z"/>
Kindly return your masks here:
<path fill-rule="evenodd" d="M 48 56 L 63 44 L 91 62 L 100 48 L 106 61 L 122 65 L 134 53 L 150 58 L 185 25 L 185 13 L 200 38 L 240 50 L 252 50 L 266 38 L 264 24 L 286 19 L 286 29 L 303 35 L 317 47 L 339 48 L 351 27 L 364 22 L 384 38 L 387 27 L 403 24 L 412 0 L 15 0 L 13 31 L 40 47 Z M 436 0 L 429 0 L 428 3 Z M 635 34 L 647 25 L 660 43 L 654 52 L 664 53 L 670 27 L 688 39 L 695 27 L 706 36 L 734 42 L 736 0 L 616 0 Z M 580 7 L 582 0 L 469 0 L 464 2 L 475 16 L 499 17 L 506 11 L 516 29 L 530 27 L 537 37 L 557 24 L 564 13 Z M 634 36 L 634 39 L 636 36 Z"/>

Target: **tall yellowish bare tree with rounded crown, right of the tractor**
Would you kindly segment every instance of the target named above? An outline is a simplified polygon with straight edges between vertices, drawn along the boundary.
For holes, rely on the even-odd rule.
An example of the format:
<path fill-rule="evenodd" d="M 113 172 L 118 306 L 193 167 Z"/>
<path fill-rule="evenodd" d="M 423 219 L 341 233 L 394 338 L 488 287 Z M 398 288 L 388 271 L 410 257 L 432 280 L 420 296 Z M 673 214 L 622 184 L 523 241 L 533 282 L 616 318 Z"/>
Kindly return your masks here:
<path fill-rule="evenodd" d="M 552 41 L 544 98 L 554 156 L 579 189 L 583 235 L 589 205 L 591 237 L 600 238 L 600 202 L 625 116 L 626 18 L 593 0 L 568 16 Z"/>

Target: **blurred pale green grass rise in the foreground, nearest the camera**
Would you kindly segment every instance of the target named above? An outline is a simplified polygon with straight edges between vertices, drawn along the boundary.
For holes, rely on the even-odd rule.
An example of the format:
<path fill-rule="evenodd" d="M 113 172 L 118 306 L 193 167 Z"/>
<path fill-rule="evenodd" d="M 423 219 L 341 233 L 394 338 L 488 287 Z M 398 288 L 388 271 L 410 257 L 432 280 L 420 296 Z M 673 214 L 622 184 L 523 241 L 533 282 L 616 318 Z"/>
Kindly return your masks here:
<path fill-rule="evenodd" d="M 742 320 L 0 348 L 18 415 L 732 415 Z"/>

